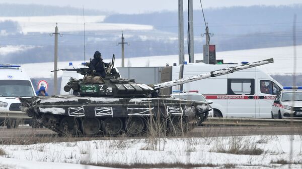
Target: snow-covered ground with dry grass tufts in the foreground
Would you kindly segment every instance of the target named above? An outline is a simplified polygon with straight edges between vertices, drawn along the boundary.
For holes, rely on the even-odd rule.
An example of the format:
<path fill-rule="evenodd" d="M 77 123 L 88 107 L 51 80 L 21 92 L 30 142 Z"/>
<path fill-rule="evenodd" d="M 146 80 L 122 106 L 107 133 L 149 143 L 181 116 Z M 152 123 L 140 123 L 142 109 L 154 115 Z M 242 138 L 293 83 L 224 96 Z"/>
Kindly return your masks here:
<path fill-rule="evenodd" d="M 301 168 L 301 135 L 295 135 L 292 141 L 291 159 L 299 164 L 292 164 L 291 168 Z M 263 152 L 260 155 L 217 152 L 218 148 L 229 149 L 230 146 L 260 148 Z M 60 168 L 81 168 L 83 166 L 67 163 L 83 162 L 120 164 L 180 162 L 218 165 L 214 168 L 221 168 L 225 164 L 234 164 L 239 168 L 286 168 L 287 165 L 275 164 L 271 161 L 289 160 L 290 136 L 93 140 L 0 145 L 0 148 L 6 152 L 6 155 L 0 157 L 0 168 L 2 166 L 41 168 L 42 165 L 43 168 L 56 168 L 58 165 L 62 166 Z"/>

